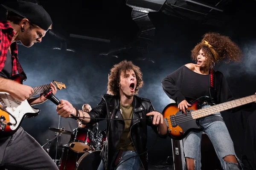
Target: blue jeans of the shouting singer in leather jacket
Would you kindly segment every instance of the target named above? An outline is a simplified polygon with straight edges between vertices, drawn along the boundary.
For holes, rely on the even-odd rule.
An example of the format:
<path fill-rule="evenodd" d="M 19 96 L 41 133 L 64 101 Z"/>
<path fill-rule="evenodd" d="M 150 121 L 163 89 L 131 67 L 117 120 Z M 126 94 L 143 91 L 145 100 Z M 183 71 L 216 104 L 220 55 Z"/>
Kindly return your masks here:
<path fill-rule="evenodd" d="M 116 158 L 117 154 L 118 154 L 118 151 L 115 152 L 113 158 Z M 133 157 L 133 156 L 135 156 L 135 157 Z M 138 170 L 139 169 L 140 157 L 137 156 L 136 152 L 131 151 L 131 150 L 123 151 L 121 157 L 122 157 L 122 159 L 120 159 L 120 161 L 117 164 L 118 167 L 111 169 L 111 170 Z M 133 158 L 131 158 L 131 157 L 133 157 Z M 129 158 L 131 158 L 131 159 L 129 159 Z M 127 160 L 127 161 L 125 161 L 125 160 Z M 113 161 L 115 161 L 115 160 L 113 160 Z M 103 161 L 100 162 L 98 170 L 104 170 Z"/>

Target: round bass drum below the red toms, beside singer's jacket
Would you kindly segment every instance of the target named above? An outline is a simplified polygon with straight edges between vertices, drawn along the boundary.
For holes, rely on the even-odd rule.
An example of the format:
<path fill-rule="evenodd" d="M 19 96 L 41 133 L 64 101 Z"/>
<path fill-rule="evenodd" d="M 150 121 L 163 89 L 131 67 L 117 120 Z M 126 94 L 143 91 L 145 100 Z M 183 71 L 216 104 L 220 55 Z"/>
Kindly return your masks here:
<path fill-rule="evenodd" d="M 101 162 L 101 150 L 88 151 L 77 162 L 76 170 L 97 170 Z"/>

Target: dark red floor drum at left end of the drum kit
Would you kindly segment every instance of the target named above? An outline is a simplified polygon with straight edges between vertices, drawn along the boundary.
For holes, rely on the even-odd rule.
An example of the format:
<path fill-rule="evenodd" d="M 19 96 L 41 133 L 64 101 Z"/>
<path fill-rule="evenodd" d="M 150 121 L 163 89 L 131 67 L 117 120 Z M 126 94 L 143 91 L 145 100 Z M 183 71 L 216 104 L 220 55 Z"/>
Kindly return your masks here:
<path fill-rule="evenodd" d="M 67 144 L 64 144 L 62 147 L 60 170 L 74 170 L 81 156 L 83 156 L 83 153 L 76 153 L 70 150 Z"/>

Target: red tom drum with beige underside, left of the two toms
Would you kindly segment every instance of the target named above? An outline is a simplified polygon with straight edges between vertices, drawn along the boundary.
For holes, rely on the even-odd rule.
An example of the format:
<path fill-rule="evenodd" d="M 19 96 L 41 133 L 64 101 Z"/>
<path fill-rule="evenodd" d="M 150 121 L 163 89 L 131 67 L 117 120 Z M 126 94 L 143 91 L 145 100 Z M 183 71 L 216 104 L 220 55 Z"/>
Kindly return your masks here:
<path fill-rule="evenodd" d="M 77 127 L 71 134 L 69 147 L 74 152 L 85 153 L 90 149 L 92 141 L 93 132 L 91 130 Z"/>

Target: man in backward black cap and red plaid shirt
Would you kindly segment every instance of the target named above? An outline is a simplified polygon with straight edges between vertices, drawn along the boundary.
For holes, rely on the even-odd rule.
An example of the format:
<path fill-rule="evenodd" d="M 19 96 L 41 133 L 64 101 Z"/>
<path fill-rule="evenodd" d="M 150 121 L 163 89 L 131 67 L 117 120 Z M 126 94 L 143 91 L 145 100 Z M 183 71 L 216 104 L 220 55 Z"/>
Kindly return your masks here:
<path fill-rule="evenodd" d="M 47 99 L 42 95 L 29 98 L 34 91 L 30 86 L 19 84 L 9 78 L 24 74 L 17 59 L 17 41 L 31 47 L 41 42 L 52 27 L 47 11 L 38 4 L 17 0 L 1 4 L 7 9 L 7 20 L 0 21 L 0 91 L 7 92 L 19 101 L 27 99 L 30 105 Z M 51 83 L 52 92 L 57 89 Z M 20 127 L 12 136 L 0 136 L 0 170 L 58 170 L 57 165 L 32 136 Z"/>

